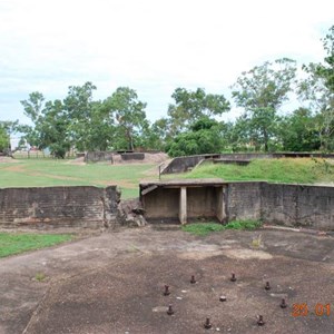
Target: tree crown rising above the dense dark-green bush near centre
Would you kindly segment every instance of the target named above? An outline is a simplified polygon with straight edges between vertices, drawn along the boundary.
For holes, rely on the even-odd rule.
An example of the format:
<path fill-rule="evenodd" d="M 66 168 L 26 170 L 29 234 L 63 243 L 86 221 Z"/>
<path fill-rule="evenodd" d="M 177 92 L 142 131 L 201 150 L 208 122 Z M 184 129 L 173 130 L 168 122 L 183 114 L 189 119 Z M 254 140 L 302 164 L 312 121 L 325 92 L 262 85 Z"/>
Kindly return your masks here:
<path fill-rule="evenodd" d="M 203 117 L 220 116 L 230 109 L 223 95 L 206 94 L 203 88 L 195 91 L 177 88 L 171 97 L 175 104 L 168 107 L 170 137 L 188 129 Z"/>

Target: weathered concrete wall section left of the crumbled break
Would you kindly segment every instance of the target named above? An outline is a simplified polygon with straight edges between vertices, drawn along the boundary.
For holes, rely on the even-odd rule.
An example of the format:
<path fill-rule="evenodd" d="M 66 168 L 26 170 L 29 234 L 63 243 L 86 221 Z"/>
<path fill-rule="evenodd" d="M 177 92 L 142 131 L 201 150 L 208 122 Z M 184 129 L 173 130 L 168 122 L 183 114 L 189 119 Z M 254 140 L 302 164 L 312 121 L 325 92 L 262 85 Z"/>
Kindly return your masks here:
<path fill-rule="evenodd" d="M 112 227 L 118 202 L 116 186 L 0 189 L 0 227 Z"/>

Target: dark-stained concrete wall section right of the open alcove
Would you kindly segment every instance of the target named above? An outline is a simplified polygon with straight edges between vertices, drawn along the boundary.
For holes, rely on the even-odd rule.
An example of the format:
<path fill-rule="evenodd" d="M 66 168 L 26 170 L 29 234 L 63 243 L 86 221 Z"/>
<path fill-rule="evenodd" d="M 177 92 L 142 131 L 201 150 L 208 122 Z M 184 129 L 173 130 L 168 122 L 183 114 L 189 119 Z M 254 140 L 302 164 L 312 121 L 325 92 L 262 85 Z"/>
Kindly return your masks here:
<path fill-rule="evenodd" d="M 227 217 L 334 230 L 334 187 L 229 183 Z"/>

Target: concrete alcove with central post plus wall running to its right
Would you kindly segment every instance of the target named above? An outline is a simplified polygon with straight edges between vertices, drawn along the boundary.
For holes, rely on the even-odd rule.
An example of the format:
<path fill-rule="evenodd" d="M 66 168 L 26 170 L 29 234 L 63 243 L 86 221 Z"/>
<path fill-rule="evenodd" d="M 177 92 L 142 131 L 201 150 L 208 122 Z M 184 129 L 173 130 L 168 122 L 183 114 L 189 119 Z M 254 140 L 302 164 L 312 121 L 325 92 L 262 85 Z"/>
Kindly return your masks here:
<path fill-rule="evenodd" d="M 261 219 L 334 230 L 334 187 L 222 179 L 140 183 L 139 187 L 148 222 Z"/>

